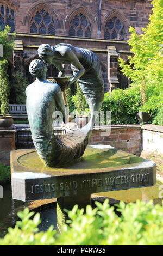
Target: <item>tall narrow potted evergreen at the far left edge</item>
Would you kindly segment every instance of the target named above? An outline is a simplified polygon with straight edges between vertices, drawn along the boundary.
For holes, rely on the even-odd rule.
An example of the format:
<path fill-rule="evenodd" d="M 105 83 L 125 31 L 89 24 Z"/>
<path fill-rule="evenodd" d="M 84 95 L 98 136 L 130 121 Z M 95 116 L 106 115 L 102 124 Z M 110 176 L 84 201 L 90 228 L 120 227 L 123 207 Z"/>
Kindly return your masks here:
<path fill-rule="evenodd" d="M 8 76 L 8 58 L 12 56 L 15 47 L 15 33 L 12 34 L 12 39 L 8 39 L 10 27 L 6 26 L 3 30 L 0 29 L 0 127 L 10 127 L 13 124 L 13 119 L 9 115 L 9 76 Z"/>

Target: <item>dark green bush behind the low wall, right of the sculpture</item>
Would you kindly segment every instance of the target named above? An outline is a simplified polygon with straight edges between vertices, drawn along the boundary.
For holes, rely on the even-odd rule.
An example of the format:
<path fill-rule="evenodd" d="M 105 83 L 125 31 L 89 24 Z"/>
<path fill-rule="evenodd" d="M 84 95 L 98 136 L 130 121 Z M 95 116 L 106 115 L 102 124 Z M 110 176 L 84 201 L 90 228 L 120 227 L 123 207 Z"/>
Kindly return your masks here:
<path fill-rule="evenodd" d="M 141 95 L 138 87 L 113 90 L 105 93 L 101 111 L 111 112 L 111 124 L 137 124 L 137 112 L 141 106 Z"/>

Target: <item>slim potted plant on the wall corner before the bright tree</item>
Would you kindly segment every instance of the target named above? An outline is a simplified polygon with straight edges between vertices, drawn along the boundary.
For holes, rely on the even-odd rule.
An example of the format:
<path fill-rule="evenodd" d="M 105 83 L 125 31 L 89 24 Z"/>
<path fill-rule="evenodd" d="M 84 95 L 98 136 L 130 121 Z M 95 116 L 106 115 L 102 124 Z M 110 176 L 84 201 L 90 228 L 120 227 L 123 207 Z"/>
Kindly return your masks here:
<path fill-rule="evenodd" d="M 140 85 L 142 106 L 140 107 L 139 112 L 137 113 L 137 118 L 139 119 L 140 123 L 145 123 L 145 124 L 151 118 L 151 115 L 148 112 L 147 106 L 146 106 L 146 102 L 147 102 L 146 92 L 147 92 L 147 86 L 146 86 L 145 77 L 143 76 L 142 81 L 141 81 L 141 85 Z"/>

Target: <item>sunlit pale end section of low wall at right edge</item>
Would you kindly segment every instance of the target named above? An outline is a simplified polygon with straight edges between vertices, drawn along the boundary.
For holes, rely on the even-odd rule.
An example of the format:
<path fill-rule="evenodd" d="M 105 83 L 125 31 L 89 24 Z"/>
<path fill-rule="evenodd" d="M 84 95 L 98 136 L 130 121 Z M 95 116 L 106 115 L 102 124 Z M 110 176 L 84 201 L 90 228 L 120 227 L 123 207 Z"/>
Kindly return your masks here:
<path fill-rule="evenodd" d="M 146 152 L 157 151 L 163 154 L 163 126 L 143 125 L 142 149 Z"/>

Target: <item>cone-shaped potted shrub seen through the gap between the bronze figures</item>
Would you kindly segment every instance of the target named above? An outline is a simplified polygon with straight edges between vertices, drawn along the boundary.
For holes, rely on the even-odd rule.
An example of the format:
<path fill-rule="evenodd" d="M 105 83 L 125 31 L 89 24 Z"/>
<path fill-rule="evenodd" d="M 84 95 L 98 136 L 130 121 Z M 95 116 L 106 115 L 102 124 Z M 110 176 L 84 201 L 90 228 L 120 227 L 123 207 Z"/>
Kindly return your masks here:
<path fill-rule="evenodd" d="M 76 119 L 75 122 L 78 126 L 85 126 L 89 122 L 90 109 L 86 102 L 79 83 L 77 82 L 76 94 L 72 96 L 72 102 L 74 103 Z"/>

